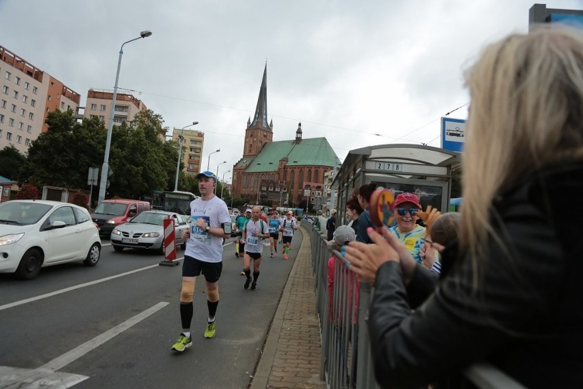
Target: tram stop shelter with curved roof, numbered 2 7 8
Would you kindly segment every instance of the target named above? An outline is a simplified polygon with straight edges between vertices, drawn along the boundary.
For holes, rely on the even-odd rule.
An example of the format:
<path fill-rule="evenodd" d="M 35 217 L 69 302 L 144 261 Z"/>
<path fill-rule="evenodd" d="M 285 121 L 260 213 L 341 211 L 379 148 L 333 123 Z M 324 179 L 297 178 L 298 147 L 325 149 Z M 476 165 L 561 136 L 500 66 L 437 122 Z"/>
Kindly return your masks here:
<path fill-rule="evenodd" d="M 428 205 L 448 211 L 452 169 L 461 166 L 461 153 L 424 145 L 376 145 L 348 152 L 332 189 L 338 190 L 338 209 L 344 210 L 354 190 L 376 182 L 395 196 L 417 194 L 424 209 Z M 344 218 L 344 212 L 339 212 Z M 344 221 L 346 223 L 346 221 Z"/>

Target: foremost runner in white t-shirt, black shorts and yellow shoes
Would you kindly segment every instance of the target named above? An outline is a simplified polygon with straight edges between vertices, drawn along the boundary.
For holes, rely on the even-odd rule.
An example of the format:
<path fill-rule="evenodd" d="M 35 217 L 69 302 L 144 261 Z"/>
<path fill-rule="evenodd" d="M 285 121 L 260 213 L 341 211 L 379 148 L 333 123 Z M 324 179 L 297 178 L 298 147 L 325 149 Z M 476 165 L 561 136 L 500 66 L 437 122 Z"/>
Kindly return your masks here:
<path fill-rule="evenodd" d="M 205 338 L 214 338 L 216 333 L 215 314 L 218 307 L 218 279 L 222 271 L 222 240 L 231 236 L 231 216 L 224 201 L 213 194 L 216 175 L 210 171 L 199 173 L 198 190 L 200 199 L 190 203 L 191 231 L 182 233 L 188 239 L 182 264 L 182 289 L 180 294 L 180 318 L 182 333 L 173 351 L 182 352 L 192 346 L 190 323 L 194 311 L 192 299 L 196 278 L 202 272 L 207 281 L 207 306 L 209 318 Z M 225 227 L 226 226 L 226 227 Z M 226 234 L 228 231 L 229 234 Z"/>

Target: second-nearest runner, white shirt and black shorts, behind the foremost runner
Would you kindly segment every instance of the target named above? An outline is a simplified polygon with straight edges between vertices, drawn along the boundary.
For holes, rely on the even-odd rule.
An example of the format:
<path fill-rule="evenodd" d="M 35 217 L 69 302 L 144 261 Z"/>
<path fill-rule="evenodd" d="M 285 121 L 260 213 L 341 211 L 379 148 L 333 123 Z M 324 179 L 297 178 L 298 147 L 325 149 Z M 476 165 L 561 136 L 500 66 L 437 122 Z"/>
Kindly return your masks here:
<path fill-rule="evenodd" d="M 243 229 L 243 240 L 245 242 L 245 255 L 243 257 L 243 271 L 247 277 L 243 288 L 257 290 L 257 279 L 259 278 L 259 265 L 263 255 L 263 239 L 269 238 L 269 225 L 261 218 L 261 209 L 253 207 L 251 218 Z M 253 260 L 253 282 L 251 283 L 251 260 Z"/>

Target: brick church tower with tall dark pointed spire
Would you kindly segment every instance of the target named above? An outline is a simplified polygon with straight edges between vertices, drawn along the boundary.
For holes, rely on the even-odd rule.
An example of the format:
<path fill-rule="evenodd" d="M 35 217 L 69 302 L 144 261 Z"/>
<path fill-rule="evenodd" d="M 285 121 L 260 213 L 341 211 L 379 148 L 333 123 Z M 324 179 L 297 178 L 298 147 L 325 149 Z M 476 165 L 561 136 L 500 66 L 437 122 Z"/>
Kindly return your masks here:
<path fill-rule="evenodd" d="M 243 157 L 255 157 L 259 154 L 261 147 L 267 142 L 273 141 L 273 121 L 268 124 L 267 119 L 267 64 L 263 70 L 263 81 L 259 88 L 259 99 L 253 121 L 248 118 L 247 129 L 245 130 L 245 142 L 243 146 Z"/>

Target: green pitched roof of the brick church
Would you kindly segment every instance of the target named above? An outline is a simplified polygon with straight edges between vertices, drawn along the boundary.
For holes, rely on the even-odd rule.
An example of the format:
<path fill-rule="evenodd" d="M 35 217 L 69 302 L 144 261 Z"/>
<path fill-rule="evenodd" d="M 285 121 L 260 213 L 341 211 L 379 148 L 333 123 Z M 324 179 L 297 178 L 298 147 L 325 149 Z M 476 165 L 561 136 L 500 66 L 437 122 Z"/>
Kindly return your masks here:
<path fill-rule="evenodd" d="M 326 138 L 280 140 L 265 143 L 255 158 L 242 158 L 237 166 L 247 166 L 245 173 L 277 171 L 279 161 L 287 158 L 286 166 L 334 166 L 336 153 Z"/>

